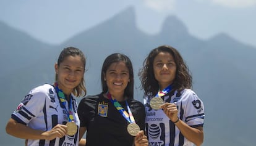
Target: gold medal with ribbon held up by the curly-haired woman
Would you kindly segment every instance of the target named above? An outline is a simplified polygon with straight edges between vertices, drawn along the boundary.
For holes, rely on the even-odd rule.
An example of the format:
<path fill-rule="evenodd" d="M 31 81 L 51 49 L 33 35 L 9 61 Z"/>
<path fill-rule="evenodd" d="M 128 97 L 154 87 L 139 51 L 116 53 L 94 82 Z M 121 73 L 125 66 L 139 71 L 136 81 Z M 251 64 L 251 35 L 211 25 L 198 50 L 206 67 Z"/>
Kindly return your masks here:
<path fill-rule="evenodd" d="M 159 110 L 160 106 L 164 103 L 162 96 L 168 94 L 168 92 L 171 91 L 171 85 L 163 89 L 162 91 L 158 91 L 158 93 L 150 100 L 150 107 L 154 110 Z"/>

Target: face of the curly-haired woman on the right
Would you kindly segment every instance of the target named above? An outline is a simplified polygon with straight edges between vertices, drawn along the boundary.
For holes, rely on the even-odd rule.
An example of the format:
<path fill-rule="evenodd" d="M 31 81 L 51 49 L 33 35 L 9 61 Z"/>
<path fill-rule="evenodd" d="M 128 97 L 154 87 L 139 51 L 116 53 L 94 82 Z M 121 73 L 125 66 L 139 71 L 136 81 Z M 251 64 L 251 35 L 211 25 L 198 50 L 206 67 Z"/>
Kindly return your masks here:
<path fill-rule="evenodd" d="M 176 63 L 173 55 L 168 52 L 160 52 L 153 61 L 153 70 L 161 90 L 173 83 L 176 75 Z"/>

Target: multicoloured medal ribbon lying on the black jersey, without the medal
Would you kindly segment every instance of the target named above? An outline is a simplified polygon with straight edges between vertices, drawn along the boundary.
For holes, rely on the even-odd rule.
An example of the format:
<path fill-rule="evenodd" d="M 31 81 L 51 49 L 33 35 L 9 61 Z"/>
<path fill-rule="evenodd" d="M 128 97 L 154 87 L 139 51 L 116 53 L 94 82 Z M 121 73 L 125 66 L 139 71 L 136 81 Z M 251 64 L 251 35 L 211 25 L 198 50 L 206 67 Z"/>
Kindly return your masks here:
<path fill-rule="evenodd" d="M 127 110 L 129 112 L 129 115 L 126 112 L 126 110 L 124 110 L 122 105 L 120 105 L 120 103 L 117 102 L 116 99 L 112 99 L 112 96 L 111 96 L 111 94 L 109 92 L 108 92 L 107 96 L 108 96 L 108 99 L 111 100 L 111 102 L 113 103 L 114 107 L 116 107 L 118 112 L 121 113 L 121 115 L 124 118 L 126 118 L 126 120 L 129 121 L 129 123 L 135 123 L 134 116 L 132 115 L 132 111 L 130 111 L 130 107 L 129 107 L 128 103 L 127 103 L 127 100 L 126 100 L 126 106 L 127 106 Z"/>

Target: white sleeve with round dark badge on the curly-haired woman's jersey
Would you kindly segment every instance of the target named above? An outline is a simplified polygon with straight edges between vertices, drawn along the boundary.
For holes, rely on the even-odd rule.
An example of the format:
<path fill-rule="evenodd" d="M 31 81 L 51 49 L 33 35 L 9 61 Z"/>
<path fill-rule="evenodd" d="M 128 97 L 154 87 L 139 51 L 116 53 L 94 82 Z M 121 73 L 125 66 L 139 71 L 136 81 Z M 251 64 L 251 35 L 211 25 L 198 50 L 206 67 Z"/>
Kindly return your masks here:
<path fill-rule="evenodd" d="M 190 89 L 186 89 L 182 94 L 182 96 L 184 96 L 182 109 L 184 111 L 185 122 L 192 127 L 203 126 L 205 108 L 202 100 Z"/>

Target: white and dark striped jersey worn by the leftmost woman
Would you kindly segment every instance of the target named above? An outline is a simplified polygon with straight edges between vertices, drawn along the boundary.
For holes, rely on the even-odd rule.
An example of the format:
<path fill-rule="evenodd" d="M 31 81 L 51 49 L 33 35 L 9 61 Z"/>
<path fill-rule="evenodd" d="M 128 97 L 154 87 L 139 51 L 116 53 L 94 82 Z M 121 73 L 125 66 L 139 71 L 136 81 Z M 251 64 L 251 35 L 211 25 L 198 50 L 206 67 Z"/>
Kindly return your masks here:
<path fill-rule="evenodd" d="M 74 121 L 79 129 L 80 121 L 77 114 L 77 102 L 72 99 L 72 114 Z M 42 131 L 49 131 L 57 124 L 67 123 L 67 111 L 69 103 L 66 101 L 66 108 L 59 102 L 58 95 L 54 86 L 50 84 L 43 84 L 42 86 L 32 89 L 20 102 L 17 109 L 12 113 L 12 118 L 18 123 L 25 124 L 33 129 L 40 129 Z M 67 110 L 66 110 L 67 109 Z M 57 137 L 53 140 L 30 140 L 28 145 L 54 145 L 54 146 L 74 146 L 78 145 L 79 132 L 74 136 Z"/>

